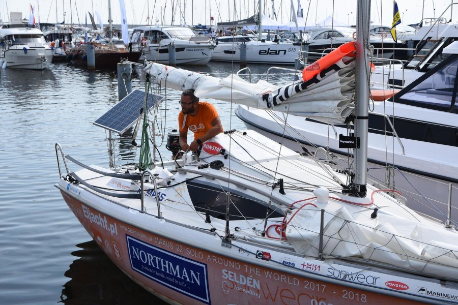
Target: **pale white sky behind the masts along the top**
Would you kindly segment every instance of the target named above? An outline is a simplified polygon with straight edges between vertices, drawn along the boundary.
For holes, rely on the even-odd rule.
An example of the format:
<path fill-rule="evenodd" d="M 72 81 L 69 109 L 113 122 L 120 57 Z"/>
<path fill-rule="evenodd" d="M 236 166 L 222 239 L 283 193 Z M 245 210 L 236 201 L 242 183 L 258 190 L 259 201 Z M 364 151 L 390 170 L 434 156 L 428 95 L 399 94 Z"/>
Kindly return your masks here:
<path fill-rule="evenodd" d="M 272 0 L 262 0 L 264 12 L 270 15 Z M 304 18 L 314 23 L 319 23 L 327 16 L 347 24 L 356 24 L 355 0 L 299 0 L 303 9 Z M 297 10 L 298 0 L 292 0 Z M 439 17 L 453 0 L 397 0 L 397 6 L 403 24 L 417 23 L 421 17 Z M 458 0 L 454 0 L 458 3 Z M 257 0 L 124 0 L 127 21 L 129 25 L 147 24 L 157 20 L 158 24 L 171 24 L 172 5 L 176 10 L 175 25 L 180 24 L 180 7 L 182 23 L 208 24 L 210 16 L 214 22 L 244 19 L 254 14 Z M 180 4 L 180 7 L 178 6 Z M 414 4 L 414 5 L 412 5 Z M 423 6 L 424 4 L 424 6 Z M 0 19 L 9 20 L 8 12 L 22 12 L 22 17 L 27 18 L 30 6 L 35 7 L 35 20 L 39 22 L 84 24 L 87 12 L 98 12 L 104 24 L 108 23 L 108 0 L 0 0 Z M 156 5 L 156 6 L 155 6 Z M 111 1 L 112 20 L 115 24 L 121 23 L 119 0 Z M 273 0 L 277 13 L 277 20 L 287 23 L 291 16 L 291 1 Z M 194 9 L 191 9 L 194 7 Z M 256 8 L 257 10 L 257 8 Z M 371 1 L 371 21 L 375 24 L 390 25 L 392 21 L 392 0 Z M 234 13 L 235 12 L 235 13 Z M 452 9 L 453 20 L 458 21 L 458 4 Z M 150 19 L 147 19 L 150 16 Z M 451 17 L 450 8 L 444 14 L 447 19 Z M 96 15 L 95 22 L 98 24 Z M 88 15 L 88 22 L 89 15 Z M 155 23 L 155 22 L 154 22 Z M 308 23 L 308 22 L 307 22 Z"/>

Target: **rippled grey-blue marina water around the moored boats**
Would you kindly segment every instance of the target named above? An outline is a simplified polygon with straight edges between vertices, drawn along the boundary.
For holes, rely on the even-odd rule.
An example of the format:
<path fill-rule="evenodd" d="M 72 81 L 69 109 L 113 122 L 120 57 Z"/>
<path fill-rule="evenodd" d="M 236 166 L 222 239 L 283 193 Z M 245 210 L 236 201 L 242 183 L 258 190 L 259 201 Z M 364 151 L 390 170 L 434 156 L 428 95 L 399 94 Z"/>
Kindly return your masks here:
<path fill-rule="evenodd" d="M 183 68 L 225 77 L 240 67 L 210 62 Z M 249 68 L 251 81 L 257 81 L 265 79 L 269 66 Z M 141 67 L 134 70 L 133 88 L 144 89 Z M 281 71 L 269 78 L 273 83 L 290 80 Z M 156 139 L 161 156 L 170 158 L 166 136 L 178 127 L 181 92 L 163 89 L 165 94 Z M 117 102 L 116 71 L 90 72 L 66 64 L 51 64 L 44 71 L 0 71 L 0 303 L 158 303 L 111 263 L 54 187 L 59 181 L 56 142 L 85 164 L 108 166 L 107 133 L 92 123 Z M 233 114 L 237 105 L 211 102 L 224 130 L 245 129 Z M 130 137 L 115 135 L 117 165 L 138 160 L 139 148 L 132 147 Z M 77 169 L 71 164 L 70 170 Z M 447 185 L 430 181 L 414 182 L 446 202 Z M 425 212 L 430 209 L 424 207 Z M 440 209 L 446 211 L 445 206 Z"/>

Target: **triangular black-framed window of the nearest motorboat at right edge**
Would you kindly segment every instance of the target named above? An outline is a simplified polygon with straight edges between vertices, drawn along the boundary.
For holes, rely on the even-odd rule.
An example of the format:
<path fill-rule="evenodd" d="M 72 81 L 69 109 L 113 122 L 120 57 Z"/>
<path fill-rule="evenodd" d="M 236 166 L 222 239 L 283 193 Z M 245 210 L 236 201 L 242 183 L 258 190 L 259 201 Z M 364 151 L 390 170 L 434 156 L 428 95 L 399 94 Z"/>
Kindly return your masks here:
<path fill-rule="evenodd" d="M 436 73 L 400 96 L 399 102 L 442 111 L 458 110 L 458 105 L 455 103 L 457 72 L 458 56 L 455 56 Z"/>

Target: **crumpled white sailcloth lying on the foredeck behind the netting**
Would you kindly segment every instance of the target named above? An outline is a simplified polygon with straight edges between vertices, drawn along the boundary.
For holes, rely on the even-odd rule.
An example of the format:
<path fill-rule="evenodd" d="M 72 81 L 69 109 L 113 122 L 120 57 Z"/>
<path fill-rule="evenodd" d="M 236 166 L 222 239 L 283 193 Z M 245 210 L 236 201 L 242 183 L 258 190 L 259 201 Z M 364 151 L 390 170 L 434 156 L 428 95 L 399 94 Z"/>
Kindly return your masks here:
<path fill-rule="evenodd" d="M 327 209 L 324 216 L 326 257 L 357 257 L 425 275 L 458 279 L 455 229 L 446 231 L 439 223 L 409 220 L 394 214 L 394 210 L 383 212 L 385 208 L 379 210 L 375 219 L 361 216 L 350 205 L 336 205 L 333 209 Z M 320 209 L 304 209 L 286 228 L 288 241 L 298 253 L 318 255 L 320 219 Z"/>

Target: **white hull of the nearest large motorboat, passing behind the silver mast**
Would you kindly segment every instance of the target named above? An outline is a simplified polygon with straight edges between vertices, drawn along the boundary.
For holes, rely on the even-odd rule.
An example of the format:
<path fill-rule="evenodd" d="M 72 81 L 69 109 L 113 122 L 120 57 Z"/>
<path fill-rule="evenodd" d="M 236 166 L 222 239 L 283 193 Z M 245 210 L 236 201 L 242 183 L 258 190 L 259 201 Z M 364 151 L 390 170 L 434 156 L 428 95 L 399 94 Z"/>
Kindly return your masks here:
<path fill-rule="evenodd" d="M 378 107 L 377 107 L 378 106 Z M 392 103 L 385 102 L 387 113 Z M 382 110 L 383 104 L 376 103 L 376 111 Z M 391 110 L 392 111 L 392 110 Z M 406 105 L 396 105 L 396 116 L 407 115 L 411 107 Z M 423 113 L 423 119 L 430 120 L 434 110 L 427 110 Z M 382 112 L 383 113 L 383 112 Z M 254 126 L 263 131 L 263 134 L 280 135 L 283 133 L 283 119 L 285 115 L 280 112 L 259 110 L 246 106 L 239 106 L 236 110 L 237 116 L 248 126 Z M 439 114 L 438 114 L 439 115 Z M 456 125 L 453 122 L 455 115 L 440 113 L 440 124 Z M 279 119 L 281 118 L 281 119 Z M 439 117 L 438 117 L 439 119 Z M 347 148 L 339 148 L 338 135 L 347 135 L 347 129 L 335 126 L 336 133 L 331 126 L 306 120 L 305 117 L 295 115 L 288 116 L 288 127 L 285 129 L 287 139 L 297 139 L 305 144 L 313 144 L 320 147 L 329 148 L 340 154 L 346 155 Z M 337 135 L 337 136 L 336 136 Z M 368 160 L 379 164 L 394 164 L 399 169 L 434 176 L 445 180 L 458 181 L 458 147 L 449 145 L 432 144 L 411 139 L 400 139 L 404 145 L 404 152 L 396 138 L 385 137 L 381 134 L 369 132 L 367 155 Z M 387 146 L 385 146 L 387 143 Z"/>

